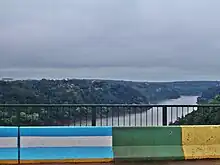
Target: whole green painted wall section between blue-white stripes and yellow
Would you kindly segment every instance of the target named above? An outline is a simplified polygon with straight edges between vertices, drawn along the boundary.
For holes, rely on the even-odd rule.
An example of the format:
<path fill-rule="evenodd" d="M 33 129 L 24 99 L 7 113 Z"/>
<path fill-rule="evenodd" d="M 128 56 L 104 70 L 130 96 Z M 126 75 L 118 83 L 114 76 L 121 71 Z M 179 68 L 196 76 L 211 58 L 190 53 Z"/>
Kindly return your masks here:
<path fill-rule="evenodd" d="M 114 158 L 183 160 L 180 127 L 114 127 Z"/>

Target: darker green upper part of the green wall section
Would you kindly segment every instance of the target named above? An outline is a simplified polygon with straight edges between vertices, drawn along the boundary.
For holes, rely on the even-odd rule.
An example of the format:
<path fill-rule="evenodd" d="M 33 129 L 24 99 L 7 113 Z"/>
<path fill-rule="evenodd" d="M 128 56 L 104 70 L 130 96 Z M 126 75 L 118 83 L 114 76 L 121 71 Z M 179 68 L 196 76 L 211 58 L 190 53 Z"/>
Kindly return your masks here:
<path fill-rule="evenodd" d="M 181 127 L 113 127 L 113 146 L 181 145 Z"/>

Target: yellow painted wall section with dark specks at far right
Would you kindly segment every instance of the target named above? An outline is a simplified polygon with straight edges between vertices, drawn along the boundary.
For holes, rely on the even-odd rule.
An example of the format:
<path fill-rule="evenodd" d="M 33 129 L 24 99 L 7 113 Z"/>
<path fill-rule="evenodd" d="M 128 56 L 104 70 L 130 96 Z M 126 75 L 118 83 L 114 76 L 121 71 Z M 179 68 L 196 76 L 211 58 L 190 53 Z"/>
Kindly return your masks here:
<path fill-rule="evenodd" d="M 220 158 L 220 126 L 181 126 L 185 159 Z"/>

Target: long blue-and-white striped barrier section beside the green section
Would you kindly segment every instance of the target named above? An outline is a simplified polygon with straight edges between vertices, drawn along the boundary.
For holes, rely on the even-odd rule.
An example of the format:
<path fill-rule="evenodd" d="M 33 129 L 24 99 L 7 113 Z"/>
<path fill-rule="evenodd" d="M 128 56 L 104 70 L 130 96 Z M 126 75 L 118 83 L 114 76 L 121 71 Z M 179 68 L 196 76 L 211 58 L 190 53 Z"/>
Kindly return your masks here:
<path fill-rule="evenodd" d="M 111 127 L 21 127 L 21 163 L 110 162 Z"/>

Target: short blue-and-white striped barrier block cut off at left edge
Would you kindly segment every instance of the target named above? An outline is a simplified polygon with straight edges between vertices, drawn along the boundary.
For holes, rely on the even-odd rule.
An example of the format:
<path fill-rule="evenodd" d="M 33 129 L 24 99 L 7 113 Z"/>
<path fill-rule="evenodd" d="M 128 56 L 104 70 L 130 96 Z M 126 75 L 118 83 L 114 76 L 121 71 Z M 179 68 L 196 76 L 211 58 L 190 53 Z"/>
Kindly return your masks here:
<path fill-rule="evenodd" d="M 17 137 L 18 137 L 17 127 L 0 127 L 0 163 L 1 164 L 18 163 Z"/>

